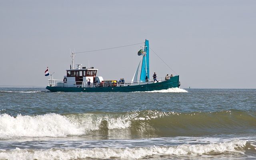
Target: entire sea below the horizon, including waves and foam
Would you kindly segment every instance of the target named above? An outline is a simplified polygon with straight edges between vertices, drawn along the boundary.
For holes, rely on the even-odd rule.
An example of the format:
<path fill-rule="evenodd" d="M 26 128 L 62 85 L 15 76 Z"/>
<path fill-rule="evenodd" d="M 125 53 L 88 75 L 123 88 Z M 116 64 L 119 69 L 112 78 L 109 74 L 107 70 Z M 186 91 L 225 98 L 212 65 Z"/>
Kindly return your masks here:
<path fill-rule="evenodd" d="M 0 88 L 0 159 L 256 159 L 256 90 Z"/>

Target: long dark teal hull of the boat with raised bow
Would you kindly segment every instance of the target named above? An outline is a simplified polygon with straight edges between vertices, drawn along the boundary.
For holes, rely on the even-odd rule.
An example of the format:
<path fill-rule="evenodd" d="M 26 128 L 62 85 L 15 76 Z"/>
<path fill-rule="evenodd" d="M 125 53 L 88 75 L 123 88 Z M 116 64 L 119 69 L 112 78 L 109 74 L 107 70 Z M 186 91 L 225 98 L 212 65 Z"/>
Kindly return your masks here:
<path fill-rule="evenodd" d="M 51 92 L 144 92 L 153 90 L 166 90 L 168 88 L 176 87 L 179 87 L 179 76 L 174 76 L 170 80 L 163 82 L 134 86 L 85 88 L 47 86 L 46 89 L 50 90 Z"/>

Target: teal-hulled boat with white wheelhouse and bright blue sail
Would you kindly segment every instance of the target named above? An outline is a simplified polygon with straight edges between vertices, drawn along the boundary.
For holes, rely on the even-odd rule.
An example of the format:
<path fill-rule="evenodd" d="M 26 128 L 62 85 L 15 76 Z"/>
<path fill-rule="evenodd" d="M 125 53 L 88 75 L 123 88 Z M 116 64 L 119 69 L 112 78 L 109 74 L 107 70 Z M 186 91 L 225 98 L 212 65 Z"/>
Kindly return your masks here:
<path fill-rule="evenodd" d="M 144 92 L 178 88 L 179 75 L 154 79 L 150 76 L 149 49 L 149 41 L 145 40 L 144 46 L 138 52 L 141 60 L 131 82 L 104 80 L 97 75 L 98 69 L 82 67 L 82 64 L 76 64 L 77 68 L 74 68 L 75 53 L 72 52 L 72 66 L 70 64 L 70 69 L 66 70 L 63 80 L 50 78 L 46 89 L 51 92 Z"/>

